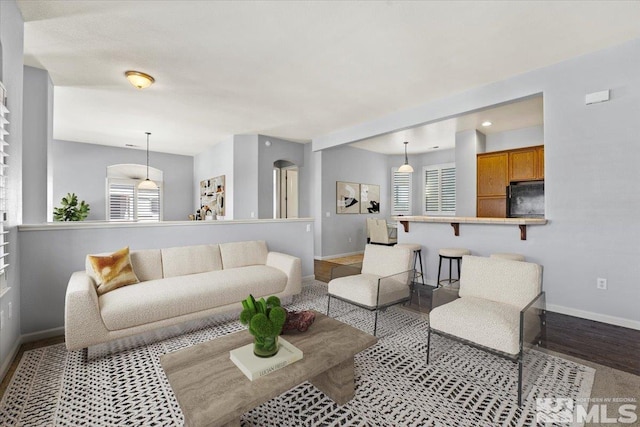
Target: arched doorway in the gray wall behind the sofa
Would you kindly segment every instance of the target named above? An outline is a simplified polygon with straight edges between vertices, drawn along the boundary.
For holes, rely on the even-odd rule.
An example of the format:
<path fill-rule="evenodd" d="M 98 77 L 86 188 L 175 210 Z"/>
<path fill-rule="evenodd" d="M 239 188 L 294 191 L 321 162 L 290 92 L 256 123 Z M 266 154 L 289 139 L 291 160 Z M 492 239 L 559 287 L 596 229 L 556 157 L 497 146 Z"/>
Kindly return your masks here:
<path fill-rule="evenodd" d="M 298 218 L 298 167 L 287 160 L 273 162 L 273 217 Z"/>

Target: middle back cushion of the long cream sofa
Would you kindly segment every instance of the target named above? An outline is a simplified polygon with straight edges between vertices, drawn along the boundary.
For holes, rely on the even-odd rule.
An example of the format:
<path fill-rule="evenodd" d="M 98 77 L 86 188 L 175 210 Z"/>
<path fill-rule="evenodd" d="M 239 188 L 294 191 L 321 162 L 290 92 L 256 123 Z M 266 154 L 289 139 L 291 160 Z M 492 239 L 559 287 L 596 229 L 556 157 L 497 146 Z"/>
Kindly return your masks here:
<path fill-rule="evenodd" d="M 165 278 L 222 270 L 218 245 L 181 246 L 161 251 Z"/>

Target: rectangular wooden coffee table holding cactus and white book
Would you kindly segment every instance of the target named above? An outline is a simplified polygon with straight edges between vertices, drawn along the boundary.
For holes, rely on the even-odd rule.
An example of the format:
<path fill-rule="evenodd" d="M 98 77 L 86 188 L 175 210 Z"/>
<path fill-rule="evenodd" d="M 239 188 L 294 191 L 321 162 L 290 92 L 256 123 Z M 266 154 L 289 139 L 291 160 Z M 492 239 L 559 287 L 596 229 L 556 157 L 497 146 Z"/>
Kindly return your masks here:
<path fill-rule="evenodd" d="M 160 357 L 186 426 L 239 426 L 240 417 L 285 391 L 310 381 L 343 405 L 355 391 L 353 356 L 378 339 L 316 312 L 307 332 L 284 335 L 304 353 L 302 360 L 250 381 L 229 351 L 253 342 L 236 332 Z"/>

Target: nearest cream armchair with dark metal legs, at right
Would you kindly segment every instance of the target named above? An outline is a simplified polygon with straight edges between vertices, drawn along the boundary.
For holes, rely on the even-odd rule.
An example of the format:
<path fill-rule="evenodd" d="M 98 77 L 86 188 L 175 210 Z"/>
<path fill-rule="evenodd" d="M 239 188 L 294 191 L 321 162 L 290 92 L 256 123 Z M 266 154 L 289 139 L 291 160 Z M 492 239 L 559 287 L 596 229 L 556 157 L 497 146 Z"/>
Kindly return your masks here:
<path fill-rule="evenodd" d="M 540 343 L 544 328 L 542 266 L 465 255 L 458 293 L 433 291 L 427 364 L 432 333 L 505 357 L 517 364 L 521 406 L 525 351 Z"/>

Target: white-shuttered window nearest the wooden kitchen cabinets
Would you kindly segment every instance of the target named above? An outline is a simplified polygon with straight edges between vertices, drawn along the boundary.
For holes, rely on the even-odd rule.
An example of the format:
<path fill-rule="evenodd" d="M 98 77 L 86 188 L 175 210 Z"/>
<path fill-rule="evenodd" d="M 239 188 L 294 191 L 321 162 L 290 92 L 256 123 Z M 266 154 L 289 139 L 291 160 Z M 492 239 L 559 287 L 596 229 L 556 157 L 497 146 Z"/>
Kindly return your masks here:
<path fill-rule="evenodd" d="M 424 214 L 455 215 L 455 163 L 425 166 L 422 168 L 422 176 L 424 177 Z"/>

